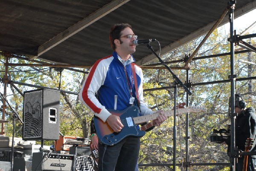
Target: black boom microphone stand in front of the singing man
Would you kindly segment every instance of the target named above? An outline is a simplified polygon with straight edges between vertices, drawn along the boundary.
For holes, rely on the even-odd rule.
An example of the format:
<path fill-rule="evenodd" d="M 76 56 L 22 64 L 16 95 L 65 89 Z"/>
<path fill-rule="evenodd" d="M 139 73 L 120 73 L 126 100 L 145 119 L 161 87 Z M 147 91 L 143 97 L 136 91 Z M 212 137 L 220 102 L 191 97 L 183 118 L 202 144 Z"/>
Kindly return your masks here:
<path fill-rule="evenodd" d="M 180 84 L 184 90 L 186 90 L 186 92 L 191 95 L 191 91 L 183 84 L 182 81 L 180 81 L 180 79 L 177 77 L 177 75 L 175 75 L 171 68 L 168 67 L 164 61 L 156 54 L 156 52 L 154 52 L 154 50 L 152 49 L 152 46 L 148 44 L 146 44 L 146 46 L 148 47 L 148 49 L 151 50 L 151 52 L 158 58 L 158 60 L 160 61 L 161 64 L 163 64 L 166 69 L 171 72 L 172 74 L 172 77 L 174 79 L 174 84 L 175 84 L 175 87 L 174 87 L 174 115 L 173 115 L 173 118 L 174 118 L 174 125 L 173 125 L 173 171 L 176 170 L 176 138 L 177 138 L 177 127 L 176 127 L 176 96 L 177 96 L 177 84 Z"/>

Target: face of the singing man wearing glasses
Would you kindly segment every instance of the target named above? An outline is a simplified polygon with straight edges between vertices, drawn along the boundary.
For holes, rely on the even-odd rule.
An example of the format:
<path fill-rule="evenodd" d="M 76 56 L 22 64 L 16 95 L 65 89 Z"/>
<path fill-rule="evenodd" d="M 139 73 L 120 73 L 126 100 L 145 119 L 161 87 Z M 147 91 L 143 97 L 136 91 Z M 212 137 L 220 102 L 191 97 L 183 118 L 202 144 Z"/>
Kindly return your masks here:
<path fill-rule="evenodd" d="M 121 36 L 119 38 L 120 44 L 119 44 L 119 50 L 121 50 L 123 53 L 129 55 L 136 51 L 136 46 L 133 44 L 133 41 L 135 40 L 134 37 L 131 37 L 130 39 L 127 38 L 127 35 L 134 35 L 134 32 L 129 27 L 126 27 L 122 32 Z"/>

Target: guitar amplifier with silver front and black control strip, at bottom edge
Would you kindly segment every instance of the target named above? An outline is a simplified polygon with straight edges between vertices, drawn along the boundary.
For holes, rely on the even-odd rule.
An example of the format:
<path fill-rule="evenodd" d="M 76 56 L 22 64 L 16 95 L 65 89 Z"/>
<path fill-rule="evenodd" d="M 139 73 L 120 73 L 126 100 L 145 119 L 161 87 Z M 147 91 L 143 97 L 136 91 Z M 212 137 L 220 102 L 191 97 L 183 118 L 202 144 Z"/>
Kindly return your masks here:
<path fill-rule="evenodd" d="M 32 171 L 74 171 L 75 155 L 33 153 Z"/>

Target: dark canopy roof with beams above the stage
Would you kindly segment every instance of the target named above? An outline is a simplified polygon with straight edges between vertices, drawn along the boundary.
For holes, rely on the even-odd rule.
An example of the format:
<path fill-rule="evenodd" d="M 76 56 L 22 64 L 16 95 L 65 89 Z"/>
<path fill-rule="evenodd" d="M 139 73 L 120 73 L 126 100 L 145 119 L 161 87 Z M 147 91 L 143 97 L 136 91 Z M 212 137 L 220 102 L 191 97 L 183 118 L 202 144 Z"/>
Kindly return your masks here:
<path fill-rule="evenodd" d="M 206 33 L 227 9 L 228 0 L 3 0 L 0 51 L 55 64 L 91 66 L 112 54 L 115 23 L 129 23 L 139 40 L 155 38 L 161 54 Z M 237 0 L 235 17 L 256 8 Z M 229 12 L 221 24 L 227 23 Z M 152 42 L 155 52 L 158 43 Z M 145 45 L 134 53 L 138 65 L 155 56 Z"/>

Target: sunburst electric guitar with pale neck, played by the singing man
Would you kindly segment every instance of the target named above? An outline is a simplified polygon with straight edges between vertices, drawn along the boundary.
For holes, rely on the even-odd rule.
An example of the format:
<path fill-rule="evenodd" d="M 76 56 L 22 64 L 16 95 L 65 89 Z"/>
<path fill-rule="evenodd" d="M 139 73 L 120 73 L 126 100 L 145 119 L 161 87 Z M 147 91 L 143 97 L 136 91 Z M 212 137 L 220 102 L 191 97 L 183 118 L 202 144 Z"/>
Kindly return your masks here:
<path fill-rule="evenodd" d="M 157 116 L 159 115 L 159 113 L 154 113 L 151 115 L 139 116 L 139 108 L 137 106 L 129 106 L 125 110 L 108 109 L 108 111 L 111 114 L 120 117 L 124 128 L 122 128 L 120 132 L 116 133 L 112 130 L 107 122 L 103 122 L 101 119 L 95 116 L 93 122 L 96 128 L 97 136 L 99 138 L 99 141 L 105 145 L 115 145 L 127 136 L 144 136 L 145 131 L 140 130 L 138 124 L 157 119 Z M 206 108 L 188 106 L 178 111 L 179 113 L 199 113 L 201 111 L 206 111 Z M 166 111 L 165 114 L 167 117 L 173 116 L 173 111 Z M 178 113 L 176 111 L 176 115 L 177 114 Z"/>

